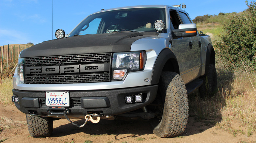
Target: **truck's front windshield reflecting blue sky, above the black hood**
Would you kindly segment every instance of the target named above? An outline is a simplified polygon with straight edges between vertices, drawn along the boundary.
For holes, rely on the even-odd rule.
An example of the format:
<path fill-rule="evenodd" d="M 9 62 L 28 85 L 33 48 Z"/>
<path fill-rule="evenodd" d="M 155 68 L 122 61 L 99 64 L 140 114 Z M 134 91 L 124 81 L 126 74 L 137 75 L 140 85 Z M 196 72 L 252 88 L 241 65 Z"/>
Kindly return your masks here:
<path fill-rule="evenodd" d="M 118 30 L 156 32 L 153 25 L 157 20 L 166 23 L 164 8 L 130 8 L 100 12 L 84 19 L 71 31 L 69 37 Z"/>

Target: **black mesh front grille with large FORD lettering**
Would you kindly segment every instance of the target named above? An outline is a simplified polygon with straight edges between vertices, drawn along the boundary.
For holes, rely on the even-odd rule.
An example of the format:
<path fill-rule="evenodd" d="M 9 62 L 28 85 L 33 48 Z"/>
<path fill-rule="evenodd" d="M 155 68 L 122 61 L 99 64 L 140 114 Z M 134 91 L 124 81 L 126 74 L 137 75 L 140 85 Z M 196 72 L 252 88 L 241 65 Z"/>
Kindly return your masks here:
<path fill-rule="evenodd" d="M 111 53 L 29 57 L 24 61 L 26 84 L 110 81 Z"/>

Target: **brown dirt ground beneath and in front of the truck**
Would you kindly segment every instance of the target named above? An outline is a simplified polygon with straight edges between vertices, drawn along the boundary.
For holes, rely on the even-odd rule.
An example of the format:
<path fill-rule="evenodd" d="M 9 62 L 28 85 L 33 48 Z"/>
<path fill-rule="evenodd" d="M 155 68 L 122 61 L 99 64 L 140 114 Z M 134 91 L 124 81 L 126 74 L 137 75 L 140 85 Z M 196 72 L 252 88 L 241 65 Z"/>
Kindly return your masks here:
<path fill-rule="evenodd" d="M 182 136 L 160 138 L 153 134 L 149 121 L 100 120 L 94 124 L 88 122 L 83 128 L 77 128 L 66 119 L 53 121 L 53 135 L 50 137 L 33 138 L 28 132 L 26 116 L 15 106 L 0 104 L 0 140 L 3 143 L 238 143 L 254 142 L 256 134 L 250 137 L 240 133 L 231 133 L 218 129 L 216 121 L 220 119 L 196 121 L 190 115 L 186 131 Z M 75 120 L 81 125 L 84 119 Z M 239 124 L 234 128 L 240 129 Z M 237 126 L 237 127 L 236 127 Z M 243 127 L 241 128 L 243 129 Z M 243 129 L 246 133 L 246 129 Z"/>

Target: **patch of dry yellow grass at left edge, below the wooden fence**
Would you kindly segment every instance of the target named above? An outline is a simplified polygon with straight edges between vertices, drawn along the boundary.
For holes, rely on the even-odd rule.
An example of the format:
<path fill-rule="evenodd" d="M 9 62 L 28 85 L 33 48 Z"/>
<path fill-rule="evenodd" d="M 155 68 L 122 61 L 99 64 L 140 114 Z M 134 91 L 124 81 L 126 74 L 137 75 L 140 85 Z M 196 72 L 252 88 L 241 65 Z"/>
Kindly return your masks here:
<path fill-rule="evenodd" d="M 2 79 L 2 83 L 0 85 L 0 103 L 5 106 L 11 103 L 12 96 L 12 78 Z"/>

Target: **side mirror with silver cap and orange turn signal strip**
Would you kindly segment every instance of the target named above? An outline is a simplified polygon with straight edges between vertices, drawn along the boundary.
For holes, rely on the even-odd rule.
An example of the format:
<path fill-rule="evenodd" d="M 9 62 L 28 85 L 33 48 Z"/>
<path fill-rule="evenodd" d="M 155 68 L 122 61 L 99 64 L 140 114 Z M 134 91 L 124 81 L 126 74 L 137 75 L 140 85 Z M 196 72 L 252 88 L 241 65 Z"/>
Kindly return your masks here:
<path fill-rule="evenodd" d="M 179 29 L 172 30 L 173 38 L 197 36 L 196 24 L 180 24 Z"/>

